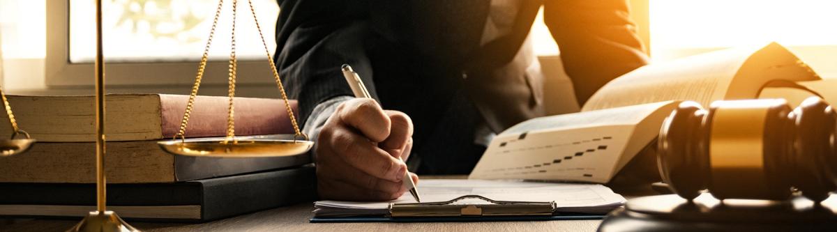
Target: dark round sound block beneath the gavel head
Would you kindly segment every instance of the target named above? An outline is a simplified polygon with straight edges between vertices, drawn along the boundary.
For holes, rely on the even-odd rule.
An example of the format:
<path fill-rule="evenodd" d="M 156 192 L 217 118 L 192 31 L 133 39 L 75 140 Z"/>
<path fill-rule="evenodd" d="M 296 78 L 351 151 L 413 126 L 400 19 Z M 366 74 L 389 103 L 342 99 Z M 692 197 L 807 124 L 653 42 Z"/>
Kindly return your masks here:
<path fill-rule="evenodd" d="M 797 196 L 787 201 L 718 200 L 701 194 L 693 201 L 676 194 L 630 199 L 608 214 L 600 232 L 626 231 L 835 231 L 837 197 L 821 203 Z"/>

